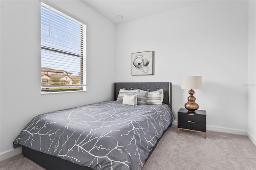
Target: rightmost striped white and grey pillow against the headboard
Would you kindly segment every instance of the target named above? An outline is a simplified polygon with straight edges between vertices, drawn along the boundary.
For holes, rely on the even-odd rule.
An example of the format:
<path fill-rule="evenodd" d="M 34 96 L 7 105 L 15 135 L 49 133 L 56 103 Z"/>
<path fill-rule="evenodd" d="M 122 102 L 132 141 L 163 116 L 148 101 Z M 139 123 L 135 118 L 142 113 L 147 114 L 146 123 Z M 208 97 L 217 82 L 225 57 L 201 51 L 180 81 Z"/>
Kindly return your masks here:
<path fill-rule="evenodd" d="M 140 90 L 140 92 L 146 92 L 143 90 Z M 159 89 L 156 91 L 150 91 L 148 92 L 148 97 L 147 97 L 147 105 L 162 105 L 164 100 L 164 91 L 163 89 Z"/>

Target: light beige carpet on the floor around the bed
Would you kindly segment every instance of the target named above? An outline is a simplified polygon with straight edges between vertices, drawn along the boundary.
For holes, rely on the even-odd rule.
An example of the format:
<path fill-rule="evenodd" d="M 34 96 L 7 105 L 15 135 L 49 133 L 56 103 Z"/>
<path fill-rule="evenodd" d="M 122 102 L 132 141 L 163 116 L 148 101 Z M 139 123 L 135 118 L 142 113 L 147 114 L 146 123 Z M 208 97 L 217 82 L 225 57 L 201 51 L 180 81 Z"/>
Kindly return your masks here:
<path fill-rule="evenodd" d="M 1 170 L 43 170 L 22 154 L 0 162 Z M 256 146 L 247 136 L 180 130 L 172 125 L 142 170 L 256 170 Z"/>

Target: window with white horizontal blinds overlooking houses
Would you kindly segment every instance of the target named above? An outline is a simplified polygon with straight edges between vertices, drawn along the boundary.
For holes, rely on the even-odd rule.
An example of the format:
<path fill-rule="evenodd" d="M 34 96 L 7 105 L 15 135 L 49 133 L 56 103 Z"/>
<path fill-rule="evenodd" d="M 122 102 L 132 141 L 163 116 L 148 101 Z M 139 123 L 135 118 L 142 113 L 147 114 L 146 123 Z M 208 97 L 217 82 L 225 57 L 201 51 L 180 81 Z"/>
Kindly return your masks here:
<path fill-rule="evenodd" d="M 42 93 L 85 90 L 85 73 L 86 25 L 41 3 Z"/>

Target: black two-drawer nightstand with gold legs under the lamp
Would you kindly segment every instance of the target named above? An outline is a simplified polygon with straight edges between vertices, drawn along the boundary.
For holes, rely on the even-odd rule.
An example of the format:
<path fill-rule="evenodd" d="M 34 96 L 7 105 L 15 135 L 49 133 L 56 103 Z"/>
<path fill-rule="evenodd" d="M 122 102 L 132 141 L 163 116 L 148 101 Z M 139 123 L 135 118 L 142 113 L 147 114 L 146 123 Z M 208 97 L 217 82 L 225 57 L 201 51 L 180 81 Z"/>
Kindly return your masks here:
<path fill-rule="evenodd" d="M 178 111 L 178 133 L 180 129 L 203 132 L 206 138 L 206 111 L 196 110 L 195 113 L 189 113 L 187 109 L 180 109 Z"/>

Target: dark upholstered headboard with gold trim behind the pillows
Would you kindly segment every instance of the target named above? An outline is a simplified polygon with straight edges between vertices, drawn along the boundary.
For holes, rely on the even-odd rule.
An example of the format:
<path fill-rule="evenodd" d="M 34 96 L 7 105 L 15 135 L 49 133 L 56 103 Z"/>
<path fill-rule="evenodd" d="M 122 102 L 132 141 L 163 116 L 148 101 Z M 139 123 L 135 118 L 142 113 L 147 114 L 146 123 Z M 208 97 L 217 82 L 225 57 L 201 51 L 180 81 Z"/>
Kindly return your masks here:
<path fill-rule="evenodd" d="M 144 91 L 164 90 L 163 103 L 169 105 L 172 109 L 172 83 L 169 82 L 154 82 L 154 83 L 114 83 L 114 100 L 117 99 L 120 89 L 134 90 L 142 89 Z"/>

